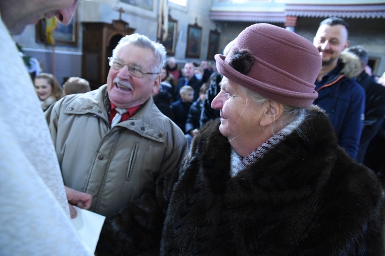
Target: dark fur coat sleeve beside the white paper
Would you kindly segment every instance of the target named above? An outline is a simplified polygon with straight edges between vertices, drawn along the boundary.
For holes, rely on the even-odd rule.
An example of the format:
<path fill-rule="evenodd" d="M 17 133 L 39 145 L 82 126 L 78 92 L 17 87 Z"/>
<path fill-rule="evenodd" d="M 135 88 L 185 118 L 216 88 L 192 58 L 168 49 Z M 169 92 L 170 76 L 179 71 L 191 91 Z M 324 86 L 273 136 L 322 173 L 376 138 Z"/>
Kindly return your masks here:
<path fill-rule="evenodd" d="M 163 222 L 177 179 L 178 172 L 160 177 L 155 190 L 144 191 L 137 201 L 108 218 L 96 254 L 159 255 Z"/>

